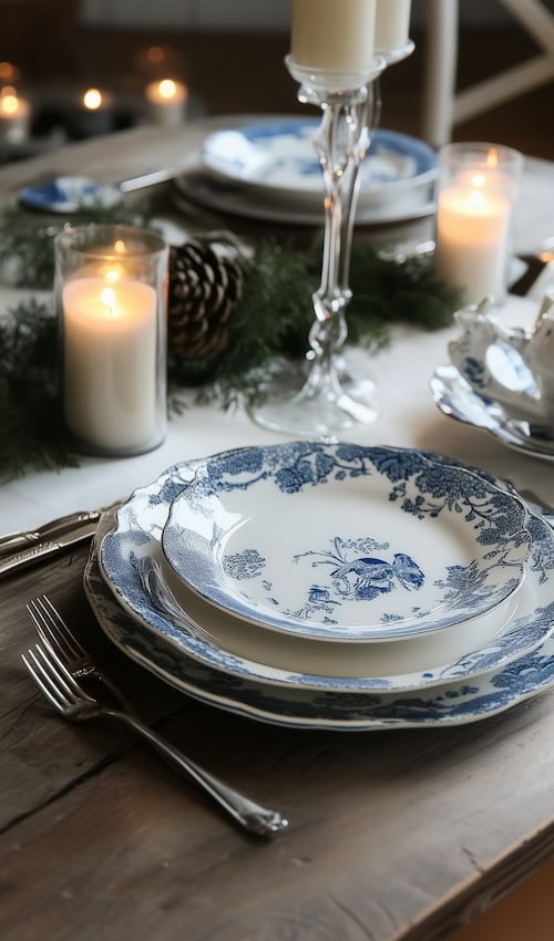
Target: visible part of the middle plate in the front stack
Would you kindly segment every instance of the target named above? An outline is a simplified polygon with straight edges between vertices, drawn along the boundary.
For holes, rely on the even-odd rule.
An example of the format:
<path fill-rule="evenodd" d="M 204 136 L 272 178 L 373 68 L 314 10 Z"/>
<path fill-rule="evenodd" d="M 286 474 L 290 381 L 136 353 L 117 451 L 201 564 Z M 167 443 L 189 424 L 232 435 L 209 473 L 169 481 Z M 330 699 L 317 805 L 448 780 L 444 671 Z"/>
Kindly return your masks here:
<path fill-rule="evenodd" d="M 550 572 L 554 568 L 553 535 L 545 524 L 532 517 L 533 555 L 519 596 L 516 617 L 505 629 L 493 637 L 489 634 L 488 642 L 474 647 L 471 637 L 462 632 L 450 634 L 447 651 L 450 659 L 444 656 L 445 651 L 437 638 L 432 645 L 429 638 L 381 645 L 314 644 L 304 639 L 258 631 L 191 596 L 186 610 L 213 633 L 213 640 L 195 637 L 156 608 L 144 589 L 140 559 L 156 558 L 171 500 L 191 483 L 203 463 L 176 465 L 153 484 L 135 490 L 120 509 L 117 524 L 103 540 L 100 552 L 104 593 L 107 590 L 115 599 L 120 616 L 126 612 L 125 623 L 129 618 L 134 622 L 132 630 L 136 639 L 144 640 L 143 654 L 150 639 L 157 651 L 165 650 L 166 659 L 181 664 L 181 673 L 194 661 L 214 674 L 230 675 L 238 684 L 247 681 L 263 687 L 275 684 L 343 694 L 420 690 L 453 679 L 469 681 L 479 673 L 499 669 L 538 645 L 552 628 L 553 611 L 548 604 L 553 578 Z M 458 652 L 452 650 L 453 640 L 460 644 Z M 419 665 L 418 656 L 421 658 Z"/>

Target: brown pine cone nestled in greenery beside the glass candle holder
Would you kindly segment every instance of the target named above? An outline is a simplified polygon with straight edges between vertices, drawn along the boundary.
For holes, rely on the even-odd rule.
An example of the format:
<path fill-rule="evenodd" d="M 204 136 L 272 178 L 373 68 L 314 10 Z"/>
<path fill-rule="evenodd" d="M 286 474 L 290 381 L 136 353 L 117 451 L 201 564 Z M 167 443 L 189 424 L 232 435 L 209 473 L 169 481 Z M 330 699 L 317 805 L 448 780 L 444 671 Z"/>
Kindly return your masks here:
<path fill-rule="evenodd" d="M 185 360 L 207 359 L 228 339 L 240 299 L 243 269 L 209 241 L 192 239 L 170 251 L 168 347 Z"/>

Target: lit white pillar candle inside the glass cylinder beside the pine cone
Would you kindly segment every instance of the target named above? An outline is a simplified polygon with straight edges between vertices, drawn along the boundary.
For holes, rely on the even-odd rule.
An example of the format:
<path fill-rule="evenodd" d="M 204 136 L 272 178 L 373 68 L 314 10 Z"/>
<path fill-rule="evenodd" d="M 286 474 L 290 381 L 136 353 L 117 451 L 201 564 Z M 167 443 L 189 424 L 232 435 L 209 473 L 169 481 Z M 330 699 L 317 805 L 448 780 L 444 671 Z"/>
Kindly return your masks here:
<path fill-rule="evenodd" d="M 156 304 L 154 288 L 135 280 L 64 285 L 65 422 L 81 441 L 115 451 L 154 437 Z"/>

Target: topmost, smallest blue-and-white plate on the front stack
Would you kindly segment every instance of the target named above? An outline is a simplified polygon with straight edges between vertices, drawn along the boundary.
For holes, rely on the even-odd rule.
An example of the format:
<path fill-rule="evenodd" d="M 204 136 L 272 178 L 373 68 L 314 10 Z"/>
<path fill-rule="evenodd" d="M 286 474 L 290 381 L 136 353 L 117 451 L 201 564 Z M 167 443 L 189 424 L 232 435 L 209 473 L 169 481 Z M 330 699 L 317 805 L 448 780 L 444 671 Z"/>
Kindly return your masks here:
<path fill-rule="evenodd" d="M 204 600 L 309 639 L 456 629 L 525 575 L 522 501 L 402 448 L 252 447 L 206 459 L 173 501 L 170 566 Z"/>

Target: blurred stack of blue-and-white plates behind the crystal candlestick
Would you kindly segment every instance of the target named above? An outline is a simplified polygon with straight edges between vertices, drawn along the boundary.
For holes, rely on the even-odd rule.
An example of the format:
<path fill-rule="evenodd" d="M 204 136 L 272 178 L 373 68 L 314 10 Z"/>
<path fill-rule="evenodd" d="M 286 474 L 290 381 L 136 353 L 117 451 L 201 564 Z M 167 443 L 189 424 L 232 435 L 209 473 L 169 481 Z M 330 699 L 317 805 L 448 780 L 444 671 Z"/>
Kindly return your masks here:
<path fill-rule="evenodd" d="M 178 195 L 273 221 L 321 225 L 322 183 L 311 144 L 317 118 L 268 118 L 209 134 Z M 390 223 L 434 210 L 437 155 L 423 141 L 377 130 L 360 172 L 357 219 Z"/>

